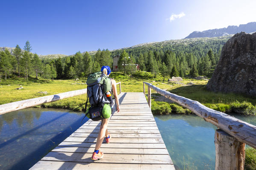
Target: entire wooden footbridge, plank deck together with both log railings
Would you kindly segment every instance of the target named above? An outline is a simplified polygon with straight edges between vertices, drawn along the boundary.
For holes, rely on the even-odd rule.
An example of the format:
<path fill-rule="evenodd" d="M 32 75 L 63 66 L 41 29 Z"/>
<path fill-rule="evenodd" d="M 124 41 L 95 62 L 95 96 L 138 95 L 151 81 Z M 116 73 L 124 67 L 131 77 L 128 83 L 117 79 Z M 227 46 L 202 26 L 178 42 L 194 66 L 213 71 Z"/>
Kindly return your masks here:
<path fill-rule="evenodd" d="M 121 111 L 115 112 L 109 121 L 108 129 L 112 139 L 111 143 L 103 142 L 101 146 L 100 150 L 103 151 L 104 158 L 94 162 L 91 160 L 100 122 L 88 120 L 41 161 L 38 161 L 31 170 L 86 168 L 174 170 L 174 165 L 151 113 L 151 89 L 220 128 L 215 132 L 215 170 L 243 170 L 245 144 L 256 148 L 256 126 L 254 125 L 207 108 L 197 101 L 171 94 L 147 82 L 143 83 L 144 93 L 121 93 L 121 83 L 117 84 L 120 87 Z M 148 86 L 148 101 L 144 96 L 145 85 Z M 86 89 L 82 89 L 12 102 L 0 105 L 0 114 L 85 93 Z"/>

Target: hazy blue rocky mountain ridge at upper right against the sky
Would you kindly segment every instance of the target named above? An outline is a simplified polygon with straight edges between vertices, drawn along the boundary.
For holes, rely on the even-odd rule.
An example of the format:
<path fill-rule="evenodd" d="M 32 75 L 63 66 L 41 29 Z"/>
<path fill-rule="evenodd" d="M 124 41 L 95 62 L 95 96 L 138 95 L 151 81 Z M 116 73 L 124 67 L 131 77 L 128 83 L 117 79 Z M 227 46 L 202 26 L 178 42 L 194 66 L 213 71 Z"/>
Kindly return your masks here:
<path fill-rule="evenodd" d="M 209 29 L 206 31 L 194 31 L 185 38 L 195 37 L 220 37 L 239 32 L 252 33 L 256 31 L 256 22 L 241 24 L 239 26 L 228 26 L 227 28 Z"/>

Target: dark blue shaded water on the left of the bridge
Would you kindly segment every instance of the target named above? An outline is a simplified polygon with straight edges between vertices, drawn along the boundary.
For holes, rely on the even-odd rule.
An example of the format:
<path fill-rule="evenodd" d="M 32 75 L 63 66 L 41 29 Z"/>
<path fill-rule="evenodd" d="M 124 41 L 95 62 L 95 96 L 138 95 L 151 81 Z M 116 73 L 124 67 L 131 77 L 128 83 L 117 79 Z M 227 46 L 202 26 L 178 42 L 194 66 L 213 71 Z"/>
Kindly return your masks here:
<path fill-rule="evenodd" d="M 81 112 L 38 108 L 0 115 L 0 169 L 29 169 L 77 130 L 83 116 Z"/>

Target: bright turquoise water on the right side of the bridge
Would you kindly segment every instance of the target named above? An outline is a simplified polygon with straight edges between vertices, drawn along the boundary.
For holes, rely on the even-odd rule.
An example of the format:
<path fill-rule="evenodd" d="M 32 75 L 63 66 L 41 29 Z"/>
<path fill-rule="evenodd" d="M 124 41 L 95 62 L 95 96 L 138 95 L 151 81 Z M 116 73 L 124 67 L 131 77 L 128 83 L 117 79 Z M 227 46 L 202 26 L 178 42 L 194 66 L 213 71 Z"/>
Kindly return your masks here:
<path fill-rule="evenodd" d="M 233 115 L 256 125 L 256 116 Z M 157 115 L 157 126 L 177 170 L 215 169 L 215 127 L 196 115 Z"/>

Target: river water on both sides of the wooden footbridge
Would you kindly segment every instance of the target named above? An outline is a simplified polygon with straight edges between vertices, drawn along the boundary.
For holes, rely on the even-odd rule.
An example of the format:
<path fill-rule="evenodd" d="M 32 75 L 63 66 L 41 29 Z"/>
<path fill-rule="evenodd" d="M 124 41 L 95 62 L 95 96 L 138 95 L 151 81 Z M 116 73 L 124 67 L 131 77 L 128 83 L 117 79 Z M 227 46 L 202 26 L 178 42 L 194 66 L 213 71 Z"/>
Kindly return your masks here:
<path fill-rule="evenodd" d="M 0 169 L 29 169 L 86 122 L 84 115 L 45 108 L 0 115 Z M 215 169 L 214 125 L 195 115 L 154 117 L 177 170 Z M 256 116 L 235 117 L 256 125 Z"/>

